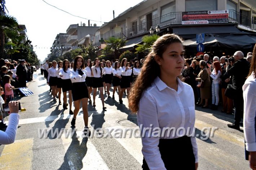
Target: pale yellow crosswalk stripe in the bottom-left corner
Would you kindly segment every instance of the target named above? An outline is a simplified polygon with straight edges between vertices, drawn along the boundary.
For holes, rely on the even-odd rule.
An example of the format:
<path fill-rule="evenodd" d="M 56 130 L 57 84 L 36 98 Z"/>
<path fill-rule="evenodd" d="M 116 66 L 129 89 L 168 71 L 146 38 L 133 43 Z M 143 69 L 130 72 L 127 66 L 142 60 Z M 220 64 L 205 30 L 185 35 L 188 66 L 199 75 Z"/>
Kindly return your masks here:
<path fill-rule="evenodd" d="M 33 141 L 33 138 L 21 139 L 5 145 L 0 156 L 0 169 L 31 170 Z"/>

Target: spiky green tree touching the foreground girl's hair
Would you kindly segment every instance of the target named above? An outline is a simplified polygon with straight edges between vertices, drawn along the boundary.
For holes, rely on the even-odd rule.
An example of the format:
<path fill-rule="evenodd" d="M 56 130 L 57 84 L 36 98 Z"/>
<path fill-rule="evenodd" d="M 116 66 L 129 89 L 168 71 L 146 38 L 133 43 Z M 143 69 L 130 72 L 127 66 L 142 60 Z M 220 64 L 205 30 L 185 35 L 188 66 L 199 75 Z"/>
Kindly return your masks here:
<path fill-rule="evenodd" d="M 138 44 L 137 48 L 135 49 L 136 52 L 144 53 L 144 55 L 147 55 L 151 51 L 151 47 L 153 43 L 159 38 L 160 36 L 153 34 L 153 35 L 146 35 L 142 37 L 143 44 Z"/>

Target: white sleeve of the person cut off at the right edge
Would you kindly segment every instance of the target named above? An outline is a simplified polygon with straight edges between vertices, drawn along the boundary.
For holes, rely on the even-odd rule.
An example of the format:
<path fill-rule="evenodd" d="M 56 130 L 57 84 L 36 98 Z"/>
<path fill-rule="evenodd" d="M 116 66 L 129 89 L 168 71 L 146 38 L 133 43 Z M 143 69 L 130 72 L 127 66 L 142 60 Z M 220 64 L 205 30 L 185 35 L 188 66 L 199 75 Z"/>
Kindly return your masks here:
<path fill-rule="evenodd" d="M 255 137 L 256 95 L 250 90 L 244 93 L 243 129 L 246 150 L 256 151 Z"/>

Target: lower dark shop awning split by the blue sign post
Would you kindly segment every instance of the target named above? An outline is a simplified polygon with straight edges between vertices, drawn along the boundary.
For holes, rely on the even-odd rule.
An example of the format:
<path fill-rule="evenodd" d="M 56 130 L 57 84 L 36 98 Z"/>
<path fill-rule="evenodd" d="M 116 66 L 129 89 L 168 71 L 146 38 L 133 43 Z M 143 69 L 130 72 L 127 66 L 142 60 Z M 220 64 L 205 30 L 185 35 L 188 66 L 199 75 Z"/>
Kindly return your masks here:
<path fill-rule="evenodd" d="M 217 35 L 206 35 L 205 38 L 205 43 L 204 46 L 207 47 L 228 47 L 228 48 L 233 48 L 233 49 L 247 49 L 247 48 L 251 48 L 252 44 L 250 43 L 246 43 L 246 42 L 241 42 L 238 40 L 232 40 L 232 39 L 228 39 L 225 37 L 220 37 Z M 197 47 L 197 39 L 193 38 L 190 40 L 185 40 L 183 42 L 184 46 L 188 46 L 188 47 Z"/>

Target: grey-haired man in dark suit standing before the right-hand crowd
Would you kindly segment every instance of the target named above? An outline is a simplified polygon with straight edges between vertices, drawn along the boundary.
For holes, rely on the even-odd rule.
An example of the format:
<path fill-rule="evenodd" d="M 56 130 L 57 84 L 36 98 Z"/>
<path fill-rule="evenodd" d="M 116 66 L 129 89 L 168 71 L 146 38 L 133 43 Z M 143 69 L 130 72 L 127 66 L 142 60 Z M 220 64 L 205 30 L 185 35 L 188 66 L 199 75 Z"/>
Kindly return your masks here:
<path fill-rule="evenodd" d="M 244 59 L 242 51 L 237 51 L 234 54 L 235 62 L 227 65 L 227 74 L 232 76 L 232 85 L 236 89 L 236 94 L 233 99 L 235 107 L 235 121 L 233 124 L 228 124 L 229 128 L 240 129 L 240 121 L 243 116 L 243 84 L 249 73 L 249 63 Z"/>

